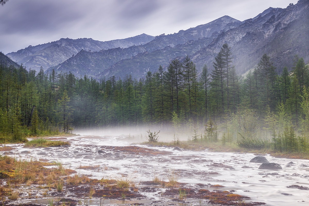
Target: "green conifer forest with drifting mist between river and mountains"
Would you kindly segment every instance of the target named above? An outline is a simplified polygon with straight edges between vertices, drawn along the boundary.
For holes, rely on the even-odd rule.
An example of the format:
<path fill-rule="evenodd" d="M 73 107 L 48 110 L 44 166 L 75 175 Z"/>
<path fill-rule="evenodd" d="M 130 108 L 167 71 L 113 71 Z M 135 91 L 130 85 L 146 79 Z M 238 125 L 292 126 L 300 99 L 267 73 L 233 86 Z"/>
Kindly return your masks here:
<path fill-rule="evenodd" d="M 298 56 L 293 65 L 278 74 L 264 54 L 242 77 L 228 44 L 213 68 L 204 65 L 200 74 L 189 57 L 172 60 L 165 71 L 160 65 L 145 78 L 99 81 L 1 65 L 0 134 L 2 141 L 20 141 L 73 128 L 172 125 L 175 131 L 194 130 L 193 139 L 240 138 L 240 146 L 250 139 L 263 145 L 264 139 L 282 150 L 287 134 L 298 144 L 307 142 L 309 130 L 309 68 Z"/>

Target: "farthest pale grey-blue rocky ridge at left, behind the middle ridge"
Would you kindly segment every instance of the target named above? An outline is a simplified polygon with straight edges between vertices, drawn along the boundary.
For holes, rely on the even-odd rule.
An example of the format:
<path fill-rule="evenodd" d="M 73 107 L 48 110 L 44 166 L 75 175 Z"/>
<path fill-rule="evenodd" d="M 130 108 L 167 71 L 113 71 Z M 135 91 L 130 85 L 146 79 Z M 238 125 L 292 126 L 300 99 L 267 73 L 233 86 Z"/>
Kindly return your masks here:
<path fill-rule="evenodd" d="M 19 64 L 23 64 L 27 68 L 40 70 L 42 66 L 44 69 L 58 65 L 68 58 L 76 55 L 79 51 L 100 51 L 102 49 L 110 48 L 127 48 L 133 45 L 146 44 L 155 37 L 141 34 L 138 36 L 111 40 L 111 41 L 97 41 L 93 39 L 60 39 L 46 44 L 39 44 L 36 46 L 28 46 L 20 49 L 17 52 L 8 53 L 7 56 Z"/>

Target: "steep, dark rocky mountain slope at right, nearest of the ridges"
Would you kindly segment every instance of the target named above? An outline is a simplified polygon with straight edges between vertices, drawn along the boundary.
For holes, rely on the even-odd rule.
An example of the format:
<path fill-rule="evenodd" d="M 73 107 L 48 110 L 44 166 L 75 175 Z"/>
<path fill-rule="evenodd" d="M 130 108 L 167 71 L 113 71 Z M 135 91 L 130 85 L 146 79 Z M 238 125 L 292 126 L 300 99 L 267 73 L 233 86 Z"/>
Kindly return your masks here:
<path fill-rule="evenodd" d="M 286 9 L 268 10 L 269 13 L 220 34 L 210 45 L 192 55 L 197 67 L 207 64 L 213 68 L 214 57 L 224 43 L 231 46 L 238 74 L 256 67 L 264 53 L 272 58 L 278 73 L 284 66 L 291 68 L 295 54 L 309 61 L 309 1 L 300 0 Z"/>

